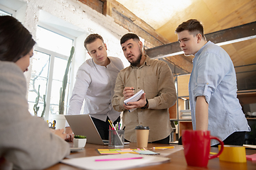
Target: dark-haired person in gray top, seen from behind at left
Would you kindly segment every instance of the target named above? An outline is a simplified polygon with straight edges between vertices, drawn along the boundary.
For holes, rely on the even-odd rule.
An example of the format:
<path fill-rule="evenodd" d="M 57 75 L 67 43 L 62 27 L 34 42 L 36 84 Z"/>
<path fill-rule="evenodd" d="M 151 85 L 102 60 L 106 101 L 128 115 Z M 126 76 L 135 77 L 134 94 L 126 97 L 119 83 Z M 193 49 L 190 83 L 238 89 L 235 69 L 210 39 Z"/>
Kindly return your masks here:
<path fill-rule="evenodd" d="M 28 112 L 26 79 L 35 41 L 11 16 L 0 16 L 0 169 L 46 169 L 70 154 L 64 130 Z"/>

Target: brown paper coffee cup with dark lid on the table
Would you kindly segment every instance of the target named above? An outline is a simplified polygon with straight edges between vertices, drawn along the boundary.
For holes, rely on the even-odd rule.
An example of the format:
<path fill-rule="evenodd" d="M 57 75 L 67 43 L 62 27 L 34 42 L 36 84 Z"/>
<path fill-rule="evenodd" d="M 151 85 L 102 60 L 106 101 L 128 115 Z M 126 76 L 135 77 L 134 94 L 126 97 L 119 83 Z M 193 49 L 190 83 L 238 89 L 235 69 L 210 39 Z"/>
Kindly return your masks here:
<path fill-rule="evenodd" d="M 135 128 L 137 136 L 137 147 L 147 147 L 149 142 L 149 127 L 139 125 Z"/>

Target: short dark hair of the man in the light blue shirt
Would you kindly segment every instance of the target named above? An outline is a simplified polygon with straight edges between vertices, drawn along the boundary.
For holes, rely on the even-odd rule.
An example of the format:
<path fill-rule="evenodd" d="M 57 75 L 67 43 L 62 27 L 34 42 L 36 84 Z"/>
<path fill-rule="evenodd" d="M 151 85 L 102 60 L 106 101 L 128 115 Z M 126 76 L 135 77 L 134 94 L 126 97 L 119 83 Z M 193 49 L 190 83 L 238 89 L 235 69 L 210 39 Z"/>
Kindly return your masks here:
<path fill-rule="evenodd" d="M 196 32 L 201 33 L 202 37 L 205 38 L 203 35 L 203 25 L 196 19 L 190 19 L 186 22 L 181 23 L 175 30 L 175 33 L 181 33 L 183 30 L 188 30 L 189 32 Z"/>

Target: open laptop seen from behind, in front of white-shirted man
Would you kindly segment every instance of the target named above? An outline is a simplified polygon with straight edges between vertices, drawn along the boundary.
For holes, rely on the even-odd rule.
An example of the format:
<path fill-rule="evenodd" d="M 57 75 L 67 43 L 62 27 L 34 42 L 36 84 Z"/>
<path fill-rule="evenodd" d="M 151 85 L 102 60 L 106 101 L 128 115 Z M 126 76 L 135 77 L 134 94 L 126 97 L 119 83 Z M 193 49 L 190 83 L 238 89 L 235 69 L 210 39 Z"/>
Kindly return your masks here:
<path fill-rule="evenodd" d="M 102 140 L 100 137 L 100 133 L 97 131 L 90 115 L 65 115 L 65 118 L 75 135 L 86 136 L 88 143 L 108 145 L 108 140 Z M 129 144 L 129 142 L 124 142 L 124 144 Z"/>

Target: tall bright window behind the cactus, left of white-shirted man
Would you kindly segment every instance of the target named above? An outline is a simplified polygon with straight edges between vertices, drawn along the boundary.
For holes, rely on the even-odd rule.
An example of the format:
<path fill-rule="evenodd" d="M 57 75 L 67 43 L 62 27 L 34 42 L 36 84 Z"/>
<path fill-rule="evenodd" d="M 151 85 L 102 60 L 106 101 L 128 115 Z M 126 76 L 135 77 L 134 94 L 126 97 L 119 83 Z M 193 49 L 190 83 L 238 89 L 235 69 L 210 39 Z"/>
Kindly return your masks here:
<path fill-rule="evenodd" d="M 45 110 L 46 118 L 48 118 L 48 113 L 58 114 L 60 88 L 62 87 L 63 76 L 74 39 L 38 26 L 28 91 L 28 107 L 31 115 L 34 115 L 34 109 L 36 109 L 34 106 L 38 96 L 39 100 L 36 104 L 39 107 L 38 116 L 41 116 L 43 110 Z M 64 113 L 67 110 L 69 78 L 70 76 L 68 76 L 65 91 Z M 46 95 L 45 99 L 43 95 Z M 44 103 L 46 103 L 46 106 L 44 106 Z"/>

